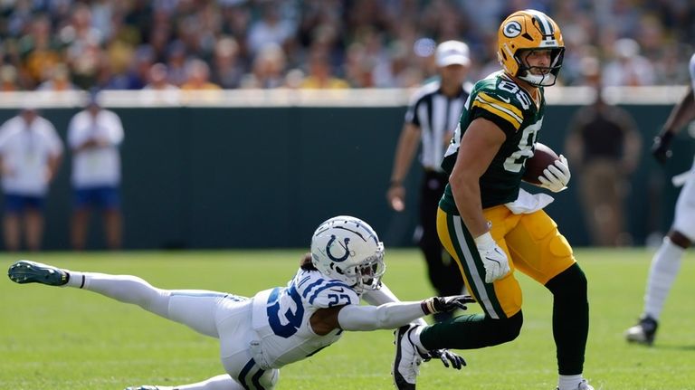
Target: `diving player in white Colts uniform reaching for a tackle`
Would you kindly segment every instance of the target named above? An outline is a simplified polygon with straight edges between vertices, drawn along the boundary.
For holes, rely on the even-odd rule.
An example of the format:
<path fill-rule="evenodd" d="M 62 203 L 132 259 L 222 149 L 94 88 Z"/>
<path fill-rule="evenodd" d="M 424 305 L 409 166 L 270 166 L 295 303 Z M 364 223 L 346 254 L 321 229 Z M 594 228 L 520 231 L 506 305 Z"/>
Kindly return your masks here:
<path fill-rule="evenodd" d="M 367 223 L 337 216 L 319 225 L 311 252 L 286 287 L 250 299 L 206 290 L 161 290 L 135 276 L 68 271 L 29 261 L 14 262 L 8 276 L 17 283 L 98 292 L 220 339 L 225 375 L 191 385 L 129 389 L 272 389 L 281 366 L 328 347 L 343 330 L 399 328 L 428 314 L 465 309 L 473 301 L 458 295 L 400 302 L 381 283 L 383 258 L 384 246 Z M 378 306 L 360 306 L 360 298 Z M 465 365 L 448 350 L 430 356 L 440 357 L 445 366 Z"/>

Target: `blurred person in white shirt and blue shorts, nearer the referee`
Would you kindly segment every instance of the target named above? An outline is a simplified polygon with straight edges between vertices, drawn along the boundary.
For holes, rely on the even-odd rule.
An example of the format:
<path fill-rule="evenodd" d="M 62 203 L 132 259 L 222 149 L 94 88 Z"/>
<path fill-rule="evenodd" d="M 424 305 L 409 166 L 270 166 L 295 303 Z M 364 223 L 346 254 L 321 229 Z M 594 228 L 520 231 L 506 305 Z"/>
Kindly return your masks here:
<path fill-rule="evenodd" d="M 116 113 L 102 109 L 96 92 L 87 107 L 72 117 L 68 143 L 72 150 L 72 248 L 81 251 L 87 243 L 90 212 L 100 209 L 109 249 L 121 246 L 120 156 L 123 126 Z"/>

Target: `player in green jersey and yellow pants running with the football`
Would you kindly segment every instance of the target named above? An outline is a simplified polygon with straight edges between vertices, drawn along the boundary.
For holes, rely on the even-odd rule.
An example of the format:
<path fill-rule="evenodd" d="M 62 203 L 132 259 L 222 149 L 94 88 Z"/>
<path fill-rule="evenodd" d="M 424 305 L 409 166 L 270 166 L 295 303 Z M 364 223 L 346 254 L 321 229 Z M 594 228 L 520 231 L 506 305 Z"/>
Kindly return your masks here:
<path fill-rule="evenodd" d="M 521 289 L 515 271 L 554 296 L 557 388 L 593 389 L 582 375 L 589 326 L 586 277 L 543 211 L 552 197 L 519 188 L 543 123 L 543 88 L 555 84 L 562 65 L 562 34 L 546 14 L 525 10 L 502 22 L 498 40 L 503 71 L 476 83 L 466 102 L 443 160 L 450 177 L 437 214 L 440 240 L 484 313 L 399 329 L 395 370 L 412 379 L 396 384 L 401 389 L 414 388 L 418 352 L 490 347 L 519 336 Z M 569 177 L 560 156 L 538 181 L 559 192 Z"/>

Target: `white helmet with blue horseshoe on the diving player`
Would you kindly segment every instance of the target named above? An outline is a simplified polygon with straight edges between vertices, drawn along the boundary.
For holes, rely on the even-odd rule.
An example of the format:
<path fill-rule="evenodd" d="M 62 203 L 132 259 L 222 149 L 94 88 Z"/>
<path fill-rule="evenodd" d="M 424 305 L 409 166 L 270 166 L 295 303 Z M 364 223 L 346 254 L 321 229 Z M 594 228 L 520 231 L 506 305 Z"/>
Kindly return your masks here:
<path fill-rule="evenodd" d="M 362 293 L 381 287 L 386 271 L 384 244 L 369 224 L 339 215 L 319 225 L 311 237 L 311 262 L 331 279 Z"/>

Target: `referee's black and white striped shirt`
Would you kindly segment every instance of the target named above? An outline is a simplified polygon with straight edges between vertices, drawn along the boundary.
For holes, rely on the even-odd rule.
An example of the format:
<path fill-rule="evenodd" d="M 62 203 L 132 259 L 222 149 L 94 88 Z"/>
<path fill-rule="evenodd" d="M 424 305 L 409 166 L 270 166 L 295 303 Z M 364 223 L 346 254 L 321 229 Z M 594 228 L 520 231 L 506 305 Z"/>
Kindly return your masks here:
<path fill-rule="evenodd" d="M 459 123 L 463 104 L 471 93 L 471 84 L 464 83 L 458 96 L 442 93 L 440 81 L 432 81 L 417 90 L 405 113 L 405 123 L 421 130 L 420 163 L 424 169 L 441 172 L 442 159 Z"/>

